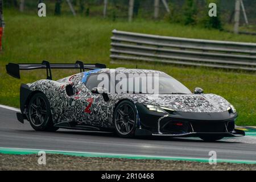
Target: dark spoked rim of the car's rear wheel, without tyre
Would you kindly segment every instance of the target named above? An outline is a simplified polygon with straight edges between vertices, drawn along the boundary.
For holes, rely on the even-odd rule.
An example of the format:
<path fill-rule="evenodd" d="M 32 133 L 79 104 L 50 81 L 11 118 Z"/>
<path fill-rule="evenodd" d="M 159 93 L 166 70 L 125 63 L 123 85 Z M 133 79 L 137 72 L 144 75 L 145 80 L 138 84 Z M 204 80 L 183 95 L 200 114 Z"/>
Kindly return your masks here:
<path fill-rule="evenodd" d="M 44 123 L 47 116 L 46 101 L 43 97 L 36 97 L 32 100 L 29 109 L 30 121 L 35 126 L 40 126 Z"/>

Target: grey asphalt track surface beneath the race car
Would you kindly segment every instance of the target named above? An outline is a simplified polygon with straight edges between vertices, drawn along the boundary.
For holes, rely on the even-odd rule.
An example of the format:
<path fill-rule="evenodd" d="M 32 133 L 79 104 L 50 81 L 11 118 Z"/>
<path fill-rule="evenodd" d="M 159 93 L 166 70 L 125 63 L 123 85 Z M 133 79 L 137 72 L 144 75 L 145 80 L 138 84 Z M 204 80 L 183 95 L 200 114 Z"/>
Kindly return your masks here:
<path fill-rule="evenodd" d="M 16 119 L 16 111 L 0 108 L 0 147 L 35 148 L 114 154 L 256 160 L 256 137 L 204 142 L 197 138 L 119 138 L 112 133 L 60 129 L 55 133 L 34 131 L 30 123 Z"/>

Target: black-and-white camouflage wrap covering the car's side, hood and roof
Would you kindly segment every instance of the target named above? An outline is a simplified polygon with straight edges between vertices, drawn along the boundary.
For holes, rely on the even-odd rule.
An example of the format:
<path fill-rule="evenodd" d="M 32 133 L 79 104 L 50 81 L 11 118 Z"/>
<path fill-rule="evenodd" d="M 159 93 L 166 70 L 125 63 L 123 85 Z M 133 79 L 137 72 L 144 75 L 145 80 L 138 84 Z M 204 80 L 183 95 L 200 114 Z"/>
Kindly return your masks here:
<path fill-rule="evenodd" d="M 146 69 L 100 69 L 97 73 L 162 73 Z M 105 102 L 100 94 L 93 94 L 82 82 L 84 73 L 78 73 L 61 80 L 38 80 L 31 90 L 43 92 L 49 100 L 53 122 L 75 121 L 96 127 L 113 127 L 114 107 L 121 100 L 141 104 L 167 107 L 176 111 L 193 113 L 220 113 L 233 106 L 216 94 L 117 94 L 109 93 Z M 65 86 L 75 86 L 76 93 L 68 96 Z M 86 108 L 89 107 L 89 110 Z"/>

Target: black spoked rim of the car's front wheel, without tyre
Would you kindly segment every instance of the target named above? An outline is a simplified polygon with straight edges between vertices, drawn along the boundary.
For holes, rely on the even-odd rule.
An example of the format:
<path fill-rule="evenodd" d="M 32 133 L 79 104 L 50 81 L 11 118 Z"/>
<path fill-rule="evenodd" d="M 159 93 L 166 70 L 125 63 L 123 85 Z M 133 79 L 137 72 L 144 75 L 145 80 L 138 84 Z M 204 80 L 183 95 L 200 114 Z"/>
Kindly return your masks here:
<path fill-rule="evenodd" d="M 123 104 L 117 108 L 115 114 L 115 127 L 122 135 L 131 133 L 135 125 L 136 114 L 133 107 Z"/>

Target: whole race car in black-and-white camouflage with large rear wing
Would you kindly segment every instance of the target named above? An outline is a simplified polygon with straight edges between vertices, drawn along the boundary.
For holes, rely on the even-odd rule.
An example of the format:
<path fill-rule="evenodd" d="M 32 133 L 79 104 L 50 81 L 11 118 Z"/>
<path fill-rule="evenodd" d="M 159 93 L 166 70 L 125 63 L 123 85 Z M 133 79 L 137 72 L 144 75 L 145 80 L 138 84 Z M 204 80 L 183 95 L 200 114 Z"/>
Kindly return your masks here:
<path fill-rule="evenodd" d="M 164 72 L 109 69 L 82 61 L 6 65 L 7 73 L 15 78 L 20 78 L 20 70 L 30 69 L 46 69 L 47 79 L 20 86 L 20 113 L 16 115 L 37 131 L 115 131 L 121 137 L 200 137 L 207 141 L 245 135 L 235 129 L 236 109 L 223 97 L 204 94 L 201 88 L 192 93 Z M 80 73 L 54 81 L 51 69 L 80 69 Z M 142 80 L 152 80 L 152 75 L 157 76 L 158 92 L 142 84 Z M 103 77 L 108 78 L 105 84 Z"/>

